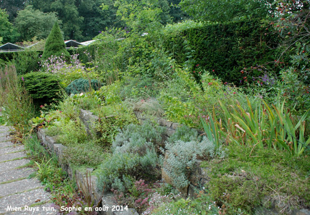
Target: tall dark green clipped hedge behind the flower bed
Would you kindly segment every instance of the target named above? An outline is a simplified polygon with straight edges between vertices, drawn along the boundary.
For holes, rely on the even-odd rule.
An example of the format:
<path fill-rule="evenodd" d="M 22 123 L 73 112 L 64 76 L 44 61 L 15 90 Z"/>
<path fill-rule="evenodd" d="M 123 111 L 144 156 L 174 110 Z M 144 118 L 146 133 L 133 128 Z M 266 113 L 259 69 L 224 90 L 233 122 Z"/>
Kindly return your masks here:
<path fill-rule="evenodd" d="M 240 85 L 245 76 L 258 77 L 264 73 L 257 69 L 246 75 L 241 70 L 274 61 L 280 51 L 270 48 L 276 47 L 279 39 L 267 32 L 261 20 L 193 26 L 166 31 L 164 46 L 178 63 L 186 62 L 192 72 L 196 70 L 195 74 L 204 69 L 223 82 Z"/>

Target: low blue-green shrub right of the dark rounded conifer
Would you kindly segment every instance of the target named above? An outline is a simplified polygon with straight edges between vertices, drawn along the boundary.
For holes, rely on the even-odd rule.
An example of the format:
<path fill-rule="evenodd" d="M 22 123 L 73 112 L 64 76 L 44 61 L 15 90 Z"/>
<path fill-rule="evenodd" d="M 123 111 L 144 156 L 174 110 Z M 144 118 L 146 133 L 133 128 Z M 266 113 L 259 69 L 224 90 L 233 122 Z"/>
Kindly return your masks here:
<path fill-rule="evenodd" d="M 87 92 L 91 88 L 95 91 L 100 88 L 100 83 L 98 82 L 98 80 L 87 80 L 84 78 L 79 78 L 72 81 L 64 90 L 70 95 L 71 93 L 78 94 L 80 92 Z"/>

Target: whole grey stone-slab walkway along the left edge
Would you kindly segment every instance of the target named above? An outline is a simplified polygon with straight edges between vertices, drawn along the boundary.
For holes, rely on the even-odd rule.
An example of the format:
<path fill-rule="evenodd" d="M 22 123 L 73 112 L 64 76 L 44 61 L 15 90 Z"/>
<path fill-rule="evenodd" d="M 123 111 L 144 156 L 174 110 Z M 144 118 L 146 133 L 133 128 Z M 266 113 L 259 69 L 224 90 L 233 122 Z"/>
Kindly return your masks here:
<path fill-rule="evenodd" d="M 23 145 L 10 141 L 10 129 L 0 126 L 0 215 L 56 215 L 49 193 L 36 179 Z"/>

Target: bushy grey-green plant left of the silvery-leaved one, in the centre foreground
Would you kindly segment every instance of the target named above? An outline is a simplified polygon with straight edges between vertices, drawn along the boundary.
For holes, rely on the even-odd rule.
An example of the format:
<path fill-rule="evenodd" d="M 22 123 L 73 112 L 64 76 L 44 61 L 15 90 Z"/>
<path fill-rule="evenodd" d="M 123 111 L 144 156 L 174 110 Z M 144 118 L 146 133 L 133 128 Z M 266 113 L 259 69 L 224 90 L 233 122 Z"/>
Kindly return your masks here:
<path fill-rule="evenodd" d="M 159 158 L 155 145 L 162 142 L 164 128 L 151 123 L 130 124 L 124 127 L 112 143 L 111 157 L 106 158 L 98 171 L 99 189 L 125 191 L 130 184 L 124 179 L 158 178 Z"/>

